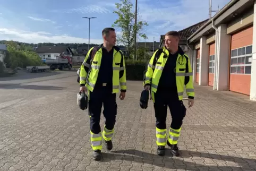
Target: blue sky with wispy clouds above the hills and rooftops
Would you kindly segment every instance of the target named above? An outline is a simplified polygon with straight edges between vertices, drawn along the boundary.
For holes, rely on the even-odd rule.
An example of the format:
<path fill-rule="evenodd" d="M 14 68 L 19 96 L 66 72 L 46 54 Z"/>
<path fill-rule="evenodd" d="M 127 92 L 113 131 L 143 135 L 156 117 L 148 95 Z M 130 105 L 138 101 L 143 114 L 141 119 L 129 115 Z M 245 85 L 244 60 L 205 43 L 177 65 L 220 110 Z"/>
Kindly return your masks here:
<path fill-rule="evenodd" d="M 103 28 L 111 27 L 117 19 L 113 13 L 116 2 L 120 0 L 0 0 L 0 40 L 88 43 L 88 19 L 82 17 L 93 16 L 97 19 L 91 20 L 90 42 L 100 44 Z M 212 0 L 212 10 L 228 2 Z M 149 24 L 143 30 L 147 41 L 159 41 L 167 31 L 182 30 L 207 19 L 208 8 L 208 0 L 138 0 L 138 17 Z"/>

